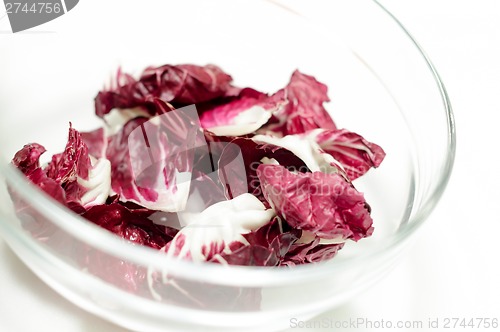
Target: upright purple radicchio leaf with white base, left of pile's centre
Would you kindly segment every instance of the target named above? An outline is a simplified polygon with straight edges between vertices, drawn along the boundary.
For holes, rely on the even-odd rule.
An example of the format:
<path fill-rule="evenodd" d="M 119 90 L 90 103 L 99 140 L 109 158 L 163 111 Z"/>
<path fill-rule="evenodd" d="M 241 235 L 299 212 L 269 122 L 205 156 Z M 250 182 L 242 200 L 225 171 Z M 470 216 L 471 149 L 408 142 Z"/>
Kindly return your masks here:
<path fill-rule="evenodd" d="M 130 120 L 109 138 L 112 188 L 122 201 L 166 212 L 185 208 L 200 126 L 196 109 L 172 111 L 155 99 L 158 117 Z"/>

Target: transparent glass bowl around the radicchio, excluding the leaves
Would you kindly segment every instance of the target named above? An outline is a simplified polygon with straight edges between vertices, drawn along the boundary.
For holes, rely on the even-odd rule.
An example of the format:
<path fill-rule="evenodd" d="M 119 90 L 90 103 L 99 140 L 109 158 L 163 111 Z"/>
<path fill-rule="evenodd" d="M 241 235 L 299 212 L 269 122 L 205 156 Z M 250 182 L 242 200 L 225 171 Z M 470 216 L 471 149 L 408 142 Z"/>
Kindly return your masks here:
<path fill-rule="evenodd" d="M 140 331 L 283 329 L 291 317 L 306 320 L 380 279 L 446 186 L 453 115 L 431 62 L 381 5 L 314 5 L 313 12 L 306 1 L 81 3 L 64 31 L 1 36 L 0 232 L 12 250 L 76 305 Z M 139 73 L 163 63 L 215 63 L 237 85 L 264 91 L 284 86 L 296 68 L 326 83 L 338 126 L 387 152 L 355 182 L 372 207 L 374 235 L 331 261 L 293 269 L 169 260 L 72 214 L 9 165 L 28 142 L 47 155 L 61 151 L 69 121 L 79 130 L 99 125 L 93 97 L 118 66 Z M 16 215 L 7 187 L 27 213 Z M 130 278 L 141 282 L 131 287 Z"/>

